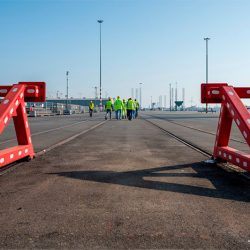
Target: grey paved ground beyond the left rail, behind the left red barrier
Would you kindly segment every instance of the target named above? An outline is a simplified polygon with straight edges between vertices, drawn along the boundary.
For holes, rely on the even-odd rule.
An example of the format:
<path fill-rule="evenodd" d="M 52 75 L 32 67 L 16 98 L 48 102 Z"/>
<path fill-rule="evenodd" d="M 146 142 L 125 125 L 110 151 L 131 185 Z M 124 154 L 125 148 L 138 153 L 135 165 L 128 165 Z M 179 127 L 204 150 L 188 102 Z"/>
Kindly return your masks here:
<path fill-rule="evenodd" d="M 35 152 L 42 151 L 70 136 L 104 121 L 104 114 L 79 114 L 71 116 L 29 117 L 29 125 Z M 0 149 L 17 145 L 11 122 L 1 135 Z"/>

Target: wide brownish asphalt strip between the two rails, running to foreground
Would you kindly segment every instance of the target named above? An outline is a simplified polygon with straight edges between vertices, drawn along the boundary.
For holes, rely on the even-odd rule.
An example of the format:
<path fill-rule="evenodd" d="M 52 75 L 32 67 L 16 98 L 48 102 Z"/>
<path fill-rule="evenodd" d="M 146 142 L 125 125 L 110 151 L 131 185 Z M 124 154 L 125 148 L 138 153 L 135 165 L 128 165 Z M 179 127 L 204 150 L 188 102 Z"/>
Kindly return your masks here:
<path fill-rule="evenodd" d="M 0 247 L 249 249 L 249 181 L 205 159 L 108 121 L 0 177 Z"/>

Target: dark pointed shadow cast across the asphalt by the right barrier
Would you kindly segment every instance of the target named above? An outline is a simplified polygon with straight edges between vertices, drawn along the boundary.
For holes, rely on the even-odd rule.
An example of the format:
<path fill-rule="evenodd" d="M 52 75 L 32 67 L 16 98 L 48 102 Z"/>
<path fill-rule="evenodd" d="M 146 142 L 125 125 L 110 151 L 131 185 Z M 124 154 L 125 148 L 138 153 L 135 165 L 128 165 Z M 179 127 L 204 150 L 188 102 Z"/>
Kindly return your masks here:
<path fill-rule="evenodd" d="M 189 168 L 189 170 L 187 168 Z M 190 169 L 193 173 L 190 173 Z M 183 172 L 168 173 L 168 171 Z M 223 169 L 211 167 L 200 162 L 126 172 L 69 171 L 49 174 L 83 181 L 111 183 L 130 187 L 250 202 L 250 183 L 248 180 L 244 179 L 237 173 L 229 173 Z M 196 186 L 197 184 L 195 180 L 192 181 L 192 185 L 188 185 L 183 183 L 176 183 L 174 179 L 173 182 L 171 182 L 169 181 L 169 178 L 167 181 L 161 182 L 158 180 L 145 180 L 145 177 L 185 177 L 190 178 L 190 180 L 192 180 L 191 178 L 202 178 L 205 180 L 209 180 L 214 187 L 208 188 Z M 178 179 L 178 182 L 181 182 L 180 179 Z"/>

